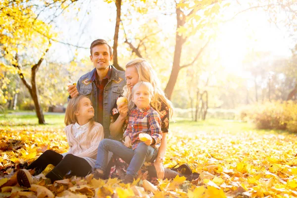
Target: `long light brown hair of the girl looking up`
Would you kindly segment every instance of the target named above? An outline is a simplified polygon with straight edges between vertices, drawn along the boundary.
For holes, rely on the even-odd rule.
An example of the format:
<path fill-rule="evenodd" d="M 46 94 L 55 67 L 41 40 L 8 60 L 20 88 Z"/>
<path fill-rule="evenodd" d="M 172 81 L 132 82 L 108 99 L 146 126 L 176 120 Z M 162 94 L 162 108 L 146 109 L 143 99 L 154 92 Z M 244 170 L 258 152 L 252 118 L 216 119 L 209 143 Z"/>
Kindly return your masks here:
<path fill-rule="evenodd" d="M 67 105 L 66 112 L 65 112 L 65 119 L 64 119 L 66 126 L 70 124 L 75 124 L 77 122 L 75 113 L 79 110 L 79 102 L 82 98 L 89 99 L 89 97 L 87 96 L 78 96 L 76 98 L 69 100 L 69 103 Z M 94 119 L 91 118 L 89 122 L 90 122 L 90 130 L 91 130 L 95 125 Z"/>

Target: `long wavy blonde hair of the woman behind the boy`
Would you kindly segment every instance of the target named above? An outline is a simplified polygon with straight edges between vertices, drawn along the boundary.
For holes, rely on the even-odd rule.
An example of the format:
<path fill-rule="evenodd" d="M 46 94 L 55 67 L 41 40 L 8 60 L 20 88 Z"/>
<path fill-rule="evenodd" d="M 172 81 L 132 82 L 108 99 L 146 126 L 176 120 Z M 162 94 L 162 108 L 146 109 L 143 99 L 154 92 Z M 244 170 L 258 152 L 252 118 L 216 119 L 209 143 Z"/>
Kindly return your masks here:
<path fill-rule="evenodd" d="M 130 60 L 126 64 L 126 68 L 135 66 L 138 75 L 139 75 L 139 81 L 149 82 L 153 87 L 153 96 L 150 102 L 150 105 L 152 108 L 154 108 L 160 115 L 162 113 L 161 110 L 161 102 L 164 102 L 168 109 L 169 109 L 169 115 L 170 117 L 173 115 L 173 104 L 172 102 L 166 98 L 163 90 L 161 89 L 160 81 L 151 67 L 151 65 L 143 58 L 136 58 L 133 60 Z M 134 102 L 132 101 L 132 93 L 131 90 L 125 85 L 124 87 L 124 97 L 128 99 L 128 108 L 132 109 L 134 106 Z"/>

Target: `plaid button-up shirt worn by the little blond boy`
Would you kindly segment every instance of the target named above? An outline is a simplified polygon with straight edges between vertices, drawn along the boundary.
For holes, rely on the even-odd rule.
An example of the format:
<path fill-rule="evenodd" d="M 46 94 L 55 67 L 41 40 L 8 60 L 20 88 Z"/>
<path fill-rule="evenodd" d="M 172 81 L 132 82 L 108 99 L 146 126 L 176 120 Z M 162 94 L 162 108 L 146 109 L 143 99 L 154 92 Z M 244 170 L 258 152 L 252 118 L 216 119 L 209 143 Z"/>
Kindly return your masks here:
<path fill-rule="evenodd" d="M 152 107 L 148 106 L 143 109 L 133 108 L 129 113 L 129 123 L 124 133 L 124 138 L 130 136 L 132 149 L 134 150 L 141 143 L 138 135 L 147 133 L 155 140 L 153 147 L 159 148 L 162 139 L 160 125 L 160 115 Z"/>

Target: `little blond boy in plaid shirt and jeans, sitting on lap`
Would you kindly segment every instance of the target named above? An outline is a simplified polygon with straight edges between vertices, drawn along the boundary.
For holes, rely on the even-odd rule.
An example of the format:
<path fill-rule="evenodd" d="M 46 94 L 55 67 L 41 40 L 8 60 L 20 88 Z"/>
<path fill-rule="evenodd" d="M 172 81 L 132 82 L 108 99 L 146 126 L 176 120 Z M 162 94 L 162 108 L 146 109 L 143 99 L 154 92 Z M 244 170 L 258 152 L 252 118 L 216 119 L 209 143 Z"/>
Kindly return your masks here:
<path fill-rule="evenodd" d="M 95 177 L 103 178 L 107 166 L 108 151 L 119 156 L 129 167 L 124 183 L 132 183 L 145 161 L 153 162 L 162 139 L 160 115 L 150 106 L 153 87 L 148 82 L 138 82 L 132 89 L 132 101 L 136 105 L 129 113 L 129 123 L 124 133 L 124 143 L 104 139 L 100 142 Z M 147 133 L 151 139 L 141 142 L 140 133 Z M 132 148 L 131 148 L 132 147 Z"/>

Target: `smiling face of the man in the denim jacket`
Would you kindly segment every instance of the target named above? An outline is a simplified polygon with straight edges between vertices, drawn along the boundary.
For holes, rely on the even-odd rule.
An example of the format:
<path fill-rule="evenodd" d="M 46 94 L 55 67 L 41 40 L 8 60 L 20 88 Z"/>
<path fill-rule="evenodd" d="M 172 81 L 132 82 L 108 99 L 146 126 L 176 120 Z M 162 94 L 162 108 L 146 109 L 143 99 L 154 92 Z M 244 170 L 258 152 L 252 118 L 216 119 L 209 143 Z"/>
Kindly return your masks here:
<path fill-rule="evenodd" d="M 103 44 L 95 46 L 92 49 L 92 55 L 90 55 L 90 58 L 97 70 L 105 70 L 110 65 L 113 55 L 110 55 L 108 46 Z"/>

